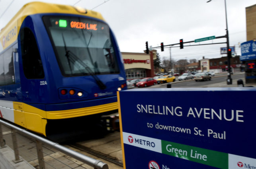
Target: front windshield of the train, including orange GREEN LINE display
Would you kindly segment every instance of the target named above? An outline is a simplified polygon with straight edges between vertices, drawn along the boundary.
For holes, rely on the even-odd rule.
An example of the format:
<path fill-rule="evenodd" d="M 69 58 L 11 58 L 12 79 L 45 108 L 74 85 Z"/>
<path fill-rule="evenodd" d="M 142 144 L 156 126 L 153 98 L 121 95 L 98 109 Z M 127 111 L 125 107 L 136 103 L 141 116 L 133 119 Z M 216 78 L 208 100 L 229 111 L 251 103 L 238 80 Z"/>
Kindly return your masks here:
<path fill-rule="evenodd" d="M 63 76 L 119 73 L 109 27 L 82 17 L 43 17 Z"/>

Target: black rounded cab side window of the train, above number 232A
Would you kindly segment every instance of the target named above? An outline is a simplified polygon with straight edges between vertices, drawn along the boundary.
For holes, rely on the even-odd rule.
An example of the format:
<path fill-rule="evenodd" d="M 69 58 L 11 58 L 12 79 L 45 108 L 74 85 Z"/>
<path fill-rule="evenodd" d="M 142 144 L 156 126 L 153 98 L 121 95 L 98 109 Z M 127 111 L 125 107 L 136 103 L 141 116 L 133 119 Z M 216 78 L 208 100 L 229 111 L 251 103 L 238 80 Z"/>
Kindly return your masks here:
<path fill-rule="evenodd" d="M 42 79 L 45 77 L 37 42 L 33 32 L 25 27 L 20 31 L 21 55 L 24 75 L 27 79 Z"/>

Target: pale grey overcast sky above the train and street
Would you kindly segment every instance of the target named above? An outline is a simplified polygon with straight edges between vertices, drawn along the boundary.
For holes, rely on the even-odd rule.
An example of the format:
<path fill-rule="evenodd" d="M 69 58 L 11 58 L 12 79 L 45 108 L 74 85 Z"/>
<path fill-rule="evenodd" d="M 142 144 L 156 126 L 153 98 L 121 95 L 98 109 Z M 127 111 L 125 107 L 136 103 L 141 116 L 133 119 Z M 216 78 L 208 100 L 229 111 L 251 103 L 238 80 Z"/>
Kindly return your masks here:
<path fill-rule="evenodd" d="M 209 36 L 226 34 L 225 0 L 41 0 L 56 4 L 68 4 L 100 12 L 113 30 L 121 52 L 143 52 L 145 42 L 149 46 L 194 41 Z M 32 0 L 0 0 L 0 29 Z M 226 0 L 230 46 L 235 46 L 240 55 L 238 43 L 246 41 L 245 8 L 256 4 L 255 0 Z M 95 8 L 96 7 L 96 8 Z M 191 43 L 226 42 L 225 38 Z M 184 44 L 189 45 L 189 44 Z M 177 46 L 177 45 L 176 45 Z M 172 59 L 219 58 L 220 47 L 226 44 L 173 47 Z M 157 49 L 161 59 L 170 59 L 170 49 Z"/>

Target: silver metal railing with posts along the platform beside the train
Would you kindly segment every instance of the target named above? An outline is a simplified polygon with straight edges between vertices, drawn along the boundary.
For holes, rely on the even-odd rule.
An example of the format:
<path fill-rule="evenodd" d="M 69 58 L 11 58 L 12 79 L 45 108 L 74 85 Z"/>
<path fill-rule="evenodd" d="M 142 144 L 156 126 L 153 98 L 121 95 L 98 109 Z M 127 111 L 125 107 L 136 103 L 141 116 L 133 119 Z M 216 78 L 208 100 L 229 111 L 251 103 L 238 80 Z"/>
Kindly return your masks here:
<path fill-rule="evenodd" d="M 86 155 L 83 155 L 81 153 L 70 150 L 64 146 L 61 146 L 58 143 L 55 143 L 55 142 L 52 142 L 45 138 L 42 138 L 40 136 L 37 136 L 36 134 L 28 132 L 25 129 L 21 129 L 21 128 L 14 126 L 13 124 L 10 124 L 3 120 L 0 120 L 0 148 L 4 147 L 2 124 L 7 126 L 8 128 L 11 128 L 12 143 L 13 143 L 13 149 L 14 149 L 14 155 L 15 155 L 15 160 L 14 160 L 15 163 L 22 161 L 19 156 L 18 144 L 17 144 L 17 139 L 16 139 L 16 132 L 19 132 L 19 133 L 35 140 L 36 148 L 37 148 L 37 158 L 38 158 L 38 163 L 39 163 L 40 169 L 45 169 L 45 161 L 44 161 L 44 156 L 43 156 L 43 151 L 42 151 L 42 143 L 62 152 L 70 157 L 73 157 L 74 159 L 77 159 L 77 160 L 81 161 L 82 163 L 90 165 L 91 167 L 94 167 L 94 169 L 108 169 L 108 165 L 100 160 L 96 160 L 96 159 L 93 159 Z"/>

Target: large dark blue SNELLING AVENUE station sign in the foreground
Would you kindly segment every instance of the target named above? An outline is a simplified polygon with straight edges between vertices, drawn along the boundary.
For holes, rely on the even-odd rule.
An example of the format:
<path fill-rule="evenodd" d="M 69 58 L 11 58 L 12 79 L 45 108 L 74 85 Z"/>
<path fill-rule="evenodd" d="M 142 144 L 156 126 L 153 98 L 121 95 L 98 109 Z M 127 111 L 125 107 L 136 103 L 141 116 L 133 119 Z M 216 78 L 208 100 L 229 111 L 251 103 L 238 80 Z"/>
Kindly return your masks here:
<path fill-rule="evenodd" d="M 254 88 L 119 91 L 124 169 L 256 168 Z"/>

